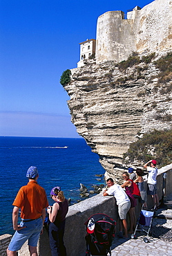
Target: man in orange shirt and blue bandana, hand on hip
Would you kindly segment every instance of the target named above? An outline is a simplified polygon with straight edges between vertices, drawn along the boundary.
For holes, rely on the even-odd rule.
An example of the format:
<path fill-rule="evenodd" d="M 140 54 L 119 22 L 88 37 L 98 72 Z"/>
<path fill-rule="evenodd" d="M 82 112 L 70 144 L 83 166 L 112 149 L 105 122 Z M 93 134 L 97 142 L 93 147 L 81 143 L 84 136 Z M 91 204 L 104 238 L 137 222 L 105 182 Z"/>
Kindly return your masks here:
<path fill-rule="evenodd" d="M 30 166 L 26 177 L 27 185 L 20 188 L 12 212 L 13 229 L 16 230 L 7 249 L 8 256 L 16 256 L 17 250 L 28 240 L 30 255 L 37 256 L 37 241 L 44 225 L 48 200 L 46 192 L 37 183 L 37 167 Z M 18 222 L 19 208 L 21 209 L 21 222 Z"/>

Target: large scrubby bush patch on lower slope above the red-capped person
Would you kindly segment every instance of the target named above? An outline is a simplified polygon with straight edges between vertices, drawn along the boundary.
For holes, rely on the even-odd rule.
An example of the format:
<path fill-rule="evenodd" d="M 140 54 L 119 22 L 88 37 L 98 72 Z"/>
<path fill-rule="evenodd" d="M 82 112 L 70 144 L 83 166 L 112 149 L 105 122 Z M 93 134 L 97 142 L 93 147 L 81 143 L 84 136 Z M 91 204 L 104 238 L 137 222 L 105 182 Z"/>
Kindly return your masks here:
<path fill-rule="evenodd" d="M 146 163 L 152 158 L 157 160 L 158 167 L 171 163 L 172 129 L 168 131 L 154 130 L 149 134 L 144 134 L 135 143 L 131 143 L 128 152 L 124 154 L 123 162 L 140 161 Z"/>

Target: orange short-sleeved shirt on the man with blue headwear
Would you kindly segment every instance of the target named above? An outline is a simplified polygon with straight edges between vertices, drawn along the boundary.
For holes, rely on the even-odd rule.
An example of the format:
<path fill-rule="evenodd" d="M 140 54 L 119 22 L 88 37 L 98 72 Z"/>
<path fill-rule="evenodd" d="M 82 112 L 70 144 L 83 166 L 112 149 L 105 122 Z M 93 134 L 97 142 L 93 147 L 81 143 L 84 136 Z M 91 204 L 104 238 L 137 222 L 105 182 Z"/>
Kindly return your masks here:
<path fill-rule="evenodd" d="M 30 181 L 20 188 L 12 205 L 21 208 L 22 219 L 37 219 L 41 217 L 42 210 L 48 207 L 46 192 L 37 181 Z"/>

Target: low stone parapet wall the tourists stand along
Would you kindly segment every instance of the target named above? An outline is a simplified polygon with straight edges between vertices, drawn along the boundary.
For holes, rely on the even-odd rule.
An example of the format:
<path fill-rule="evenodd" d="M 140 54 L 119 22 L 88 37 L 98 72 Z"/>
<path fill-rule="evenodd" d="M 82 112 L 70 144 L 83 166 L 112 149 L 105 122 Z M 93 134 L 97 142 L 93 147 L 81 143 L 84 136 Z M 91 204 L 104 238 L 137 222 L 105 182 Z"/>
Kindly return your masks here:
<path fill-rule="evenodd" d="M 166 165 L 158 170 L 157 176 L 157 194 L 159 198 L 162 198 L 162 175 L 166 172 L 166 195 L 172 195 L 172 163 Z M 146 180 L 146 176 L 144 177 Z M 151 196 L 148 196 L 148 205 L 152 206 Z M 137 217 L 140 214 L 140 205 L 137 203 L 135 207 Z M 98 194 L 90 199 L 86 199 L 75 205 L 69 207 L 69 212 L 66 217 L 66 230 L 64 236 L 64 243 L 66 245 L 68 256 L 84 256 L 86 251 L 86 226 L 84 223 L 87 219 L 95 213 L 108 214 L 111 218 L 117 221 L 117 208 L 115 207 L 115 199 L 113 196 L 102 196 Z M 127 219 L 128 220 L 128 219 Z M 119 229 L 117 221 L 116 230 Z M 1 247 L 0 255 L 6 256 L 6 248 L 12 236 L 3 235 L 0 237 Z M 41 235 L 38 246 L 39 256 L 50 256 L 50 246 L 48 242 L 48 233 L 44 230 L 44 234 Z M 28 246 L 25 244 L 19 251 L 20 256 L 29 256 Z"/>

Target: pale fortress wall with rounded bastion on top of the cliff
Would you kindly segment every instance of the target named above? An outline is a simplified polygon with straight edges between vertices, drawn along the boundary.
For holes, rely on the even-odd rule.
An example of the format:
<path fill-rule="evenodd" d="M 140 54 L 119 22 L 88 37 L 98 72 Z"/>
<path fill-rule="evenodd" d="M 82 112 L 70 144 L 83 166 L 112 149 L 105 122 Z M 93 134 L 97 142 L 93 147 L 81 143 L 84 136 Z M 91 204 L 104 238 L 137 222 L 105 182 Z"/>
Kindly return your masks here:
<path fill-rule="evenodd" d="M 132 52 L 160 53 L 172 48 L 172 1 L 155 0 L 142 10 L 105 12 L 97 20 L 97 64 L 121 62 Z"/>

